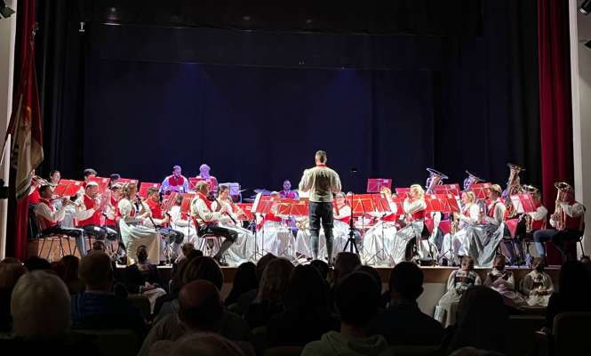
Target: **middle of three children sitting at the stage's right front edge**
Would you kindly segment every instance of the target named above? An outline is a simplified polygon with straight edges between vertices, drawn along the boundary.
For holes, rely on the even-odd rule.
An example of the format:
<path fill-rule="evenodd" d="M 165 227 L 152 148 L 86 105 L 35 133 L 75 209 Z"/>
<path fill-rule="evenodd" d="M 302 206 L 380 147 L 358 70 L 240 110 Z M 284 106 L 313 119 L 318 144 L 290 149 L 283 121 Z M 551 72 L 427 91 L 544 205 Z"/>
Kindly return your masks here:
<path fill-rule="evenodd" d="M 508 307 L 519 309 L 523 307 L 525 299 L 515 291 L 515 279 L 513 272 L 505 269 L 506 259 L 504 255 L 497 255 L 492 262 L 492 270 L 486 274 L 484 287 L 490 287 L 499 292 Z"/>

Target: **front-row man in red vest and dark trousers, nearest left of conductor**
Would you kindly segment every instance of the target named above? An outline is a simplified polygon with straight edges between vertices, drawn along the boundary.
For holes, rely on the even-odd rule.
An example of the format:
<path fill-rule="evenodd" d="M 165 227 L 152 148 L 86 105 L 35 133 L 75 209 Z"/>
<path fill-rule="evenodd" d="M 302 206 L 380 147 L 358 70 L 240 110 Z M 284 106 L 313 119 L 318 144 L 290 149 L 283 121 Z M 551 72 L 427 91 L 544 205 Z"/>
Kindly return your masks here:
<path fill-rule="evenodd" d="M 212 200 L 208 198 L 210 193 L 209 183 L 205 181 L 198 182 L 196 190 L 197 195 L 193 201 L 191 201 L 191 215 L 196 218 L 198 225 L 197 235 L 203 237 L 205 234 L 212 234 L 225 238 L 224 242 L 221 244 L 220 250 L 213 256 L 213 258 L 220 263 L 220 265 L 228 265 L 228 263 L 221 261 L 221 257 L 236 241 L 238 233 L 218 225 L 222 214 L 227 213 L 228 210 L 226 207 L 222 206 L 220 211 L 213 212 Z"/>

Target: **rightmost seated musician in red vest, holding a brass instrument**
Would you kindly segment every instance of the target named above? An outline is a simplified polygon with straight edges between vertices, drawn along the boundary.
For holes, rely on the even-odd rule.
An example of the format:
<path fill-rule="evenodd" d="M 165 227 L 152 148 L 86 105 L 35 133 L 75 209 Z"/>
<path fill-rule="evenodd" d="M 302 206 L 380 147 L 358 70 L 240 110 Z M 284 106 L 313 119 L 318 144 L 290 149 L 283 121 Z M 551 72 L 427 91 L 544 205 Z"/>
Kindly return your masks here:
<path fill-rule="evenodd" d="M 563 258 L 571 258 L 567 243 L 577 241 L 583 232 L 585 223 L 585 206 L 575 200 L 574 190 L 566 183 L 559 187 L 559 198 L 556 200 L 555 213 L 550 216 L 552 229 L 542 229 L 533 233 L 539 255 L 546 258 L 544 242 L 552 240 L 563 254 Z"/>

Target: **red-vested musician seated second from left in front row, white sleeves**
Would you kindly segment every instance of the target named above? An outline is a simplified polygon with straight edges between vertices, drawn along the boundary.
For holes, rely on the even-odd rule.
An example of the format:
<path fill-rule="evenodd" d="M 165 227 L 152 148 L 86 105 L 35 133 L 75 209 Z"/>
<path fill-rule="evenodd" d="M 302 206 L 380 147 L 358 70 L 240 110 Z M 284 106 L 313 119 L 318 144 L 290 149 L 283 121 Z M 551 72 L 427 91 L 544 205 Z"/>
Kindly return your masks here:
<path fill-rule="evenodd" d="M 95 239 L 116 239 L 116 231 L 101 227 L 102 211 L 97 182 L 86 182 L 84 195 L 78 198 L 76 205 L 78 206 L 76 211 L 77 226 L 84 229 L 84 234 L 93 236 Z"/>

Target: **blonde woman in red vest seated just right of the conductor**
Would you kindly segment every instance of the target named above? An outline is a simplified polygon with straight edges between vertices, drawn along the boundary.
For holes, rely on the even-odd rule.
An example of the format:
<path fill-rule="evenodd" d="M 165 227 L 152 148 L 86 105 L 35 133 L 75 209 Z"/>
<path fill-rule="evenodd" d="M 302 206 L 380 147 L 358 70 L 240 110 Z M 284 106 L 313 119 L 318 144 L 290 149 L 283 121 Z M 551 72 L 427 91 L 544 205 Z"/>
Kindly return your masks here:
<path fill-rule="evenodd" d="M 419 184 L 411 185 L 410 197 L 404 199 L 403 212 L 406 216 L 406 226 L 396 232 L 394 247 L 390 251 L 394 263 L 410 261 L 413 257 L 413 241 L 417 247 L 423 245 L 419 243 L 422 237 L 428 237 L 428 231 L 425 226 L 425 213 L 427 203 L 425 203 L 425 190 Z"/>

